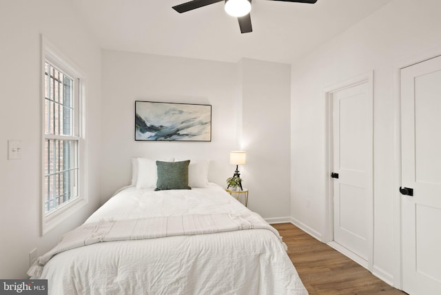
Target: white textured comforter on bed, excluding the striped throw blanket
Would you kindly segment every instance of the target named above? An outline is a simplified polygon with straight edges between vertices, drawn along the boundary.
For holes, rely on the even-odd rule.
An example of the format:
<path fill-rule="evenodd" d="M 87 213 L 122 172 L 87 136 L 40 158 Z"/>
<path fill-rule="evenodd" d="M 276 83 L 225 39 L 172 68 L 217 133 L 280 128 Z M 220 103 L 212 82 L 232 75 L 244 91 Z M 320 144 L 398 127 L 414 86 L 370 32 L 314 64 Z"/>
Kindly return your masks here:
<path fill-rule="evenodd" d="M 149 216 L 253 214 L 222 187 L 136 190 L 113 196 L 85 223 Z M 270 230 L 97 243 L 43 268 L 50 294 L 307 294 Z"/>

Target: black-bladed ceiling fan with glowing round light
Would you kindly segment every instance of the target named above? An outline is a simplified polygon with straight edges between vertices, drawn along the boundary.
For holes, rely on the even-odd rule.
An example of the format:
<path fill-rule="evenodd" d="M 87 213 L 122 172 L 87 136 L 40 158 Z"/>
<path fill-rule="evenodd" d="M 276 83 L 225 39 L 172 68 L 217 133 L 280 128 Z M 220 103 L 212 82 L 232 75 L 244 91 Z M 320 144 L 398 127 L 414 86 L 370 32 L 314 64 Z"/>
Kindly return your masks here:
<path fill-rule="evenodd" d="M 189 10 L 194 10 L 196 8 L 201 8 L 213 3 L 218 3 L 220 1 L 225 1 L 225 11 L 237 17 L 239 21 L 240 32 L 248 33 L 252 32 L 253 28 L 251 26 L 251 17 L 249 12 L 251 11 L 251 1 L 252 0 L 193 0 L 186 3 L 173 6 L 173 9 L 179 13 L 187 12 Z M 317 0 L 271 0 L 271 1 L 284 1 L 284 2 L 298 2 L 298 3 L 311 3 L 314 4 Z"/>

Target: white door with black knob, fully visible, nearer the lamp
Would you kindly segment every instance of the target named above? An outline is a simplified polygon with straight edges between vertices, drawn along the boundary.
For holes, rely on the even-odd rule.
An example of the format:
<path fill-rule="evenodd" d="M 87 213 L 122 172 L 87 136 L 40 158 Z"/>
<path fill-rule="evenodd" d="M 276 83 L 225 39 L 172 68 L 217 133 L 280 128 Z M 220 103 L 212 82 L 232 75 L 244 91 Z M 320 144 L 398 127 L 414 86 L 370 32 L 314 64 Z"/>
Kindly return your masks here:
<path fill-rule="evenodd" d="M 369 83 L 334 92 L 332 103 L 334 243 L 338 244 L 338 250 L 369 269 L 372 206 Z"/>

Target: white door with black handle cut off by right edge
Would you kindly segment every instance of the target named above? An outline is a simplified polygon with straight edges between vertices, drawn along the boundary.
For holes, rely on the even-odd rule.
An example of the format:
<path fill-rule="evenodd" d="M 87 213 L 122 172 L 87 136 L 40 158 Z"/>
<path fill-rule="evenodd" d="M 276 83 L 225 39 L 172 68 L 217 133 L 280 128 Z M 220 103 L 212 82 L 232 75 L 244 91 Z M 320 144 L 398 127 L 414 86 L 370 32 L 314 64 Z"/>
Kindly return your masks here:
<path fill-rule="evenodd" d="M 401 70 L 400 103 L 402 288 L 441 294 L 441 57 Z"/>

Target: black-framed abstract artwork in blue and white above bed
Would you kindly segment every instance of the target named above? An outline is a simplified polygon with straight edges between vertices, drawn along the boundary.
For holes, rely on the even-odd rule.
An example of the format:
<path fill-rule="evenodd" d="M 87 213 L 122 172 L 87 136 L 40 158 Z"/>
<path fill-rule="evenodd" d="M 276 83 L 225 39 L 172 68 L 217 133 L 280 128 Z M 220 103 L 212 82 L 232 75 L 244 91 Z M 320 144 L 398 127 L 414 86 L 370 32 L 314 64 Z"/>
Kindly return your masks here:
<path fill-rule="evenodd" d="M 212 141 L 212 105 L 135 101 L 136 141 Z"/>

